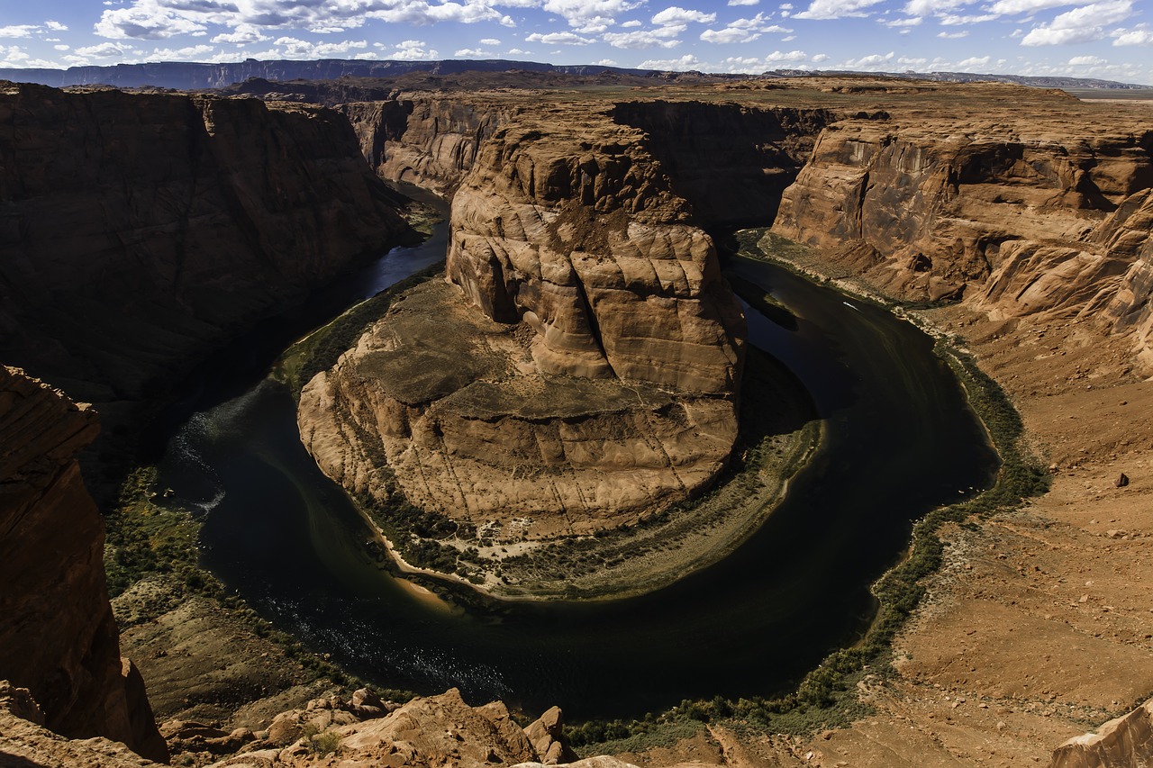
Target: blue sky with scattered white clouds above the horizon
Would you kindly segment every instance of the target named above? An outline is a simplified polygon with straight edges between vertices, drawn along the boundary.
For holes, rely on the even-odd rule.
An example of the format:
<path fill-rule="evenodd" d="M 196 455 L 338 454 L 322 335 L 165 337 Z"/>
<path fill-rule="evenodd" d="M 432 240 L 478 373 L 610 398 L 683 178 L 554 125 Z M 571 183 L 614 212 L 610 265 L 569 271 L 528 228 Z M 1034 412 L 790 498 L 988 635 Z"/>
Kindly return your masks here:
<path fill-rule="evenodd" d="M 1153 0 L 3 0 L 0 67 L 515 59 L 1153 84 Z M 0 71 L 2 77 L 2 71 Z"/>

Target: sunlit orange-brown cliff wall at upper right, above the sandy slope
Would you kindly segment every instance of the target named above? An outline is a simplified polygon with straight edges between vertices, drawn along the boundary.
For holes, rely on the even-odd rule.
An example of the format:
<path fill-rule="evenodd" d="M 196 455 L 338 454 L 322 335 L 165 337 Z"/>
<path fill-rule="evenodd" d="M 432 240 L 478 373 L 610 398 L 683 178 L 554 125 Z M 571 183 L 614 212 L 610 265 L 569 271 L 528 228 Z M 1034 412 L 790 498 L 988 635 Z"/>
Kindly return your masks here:
<path fill-rule="evenodd" d="M 1153 133 L 1030 115 L 939 123 L 829 127 L 774 229 L 894 295 L 964 298 L 1000 317 L 1071 316 L 1141 285 L 1130 268 Z M 1114 322 L 1133 323 L 1141 300 L 1122 301 Z"/>

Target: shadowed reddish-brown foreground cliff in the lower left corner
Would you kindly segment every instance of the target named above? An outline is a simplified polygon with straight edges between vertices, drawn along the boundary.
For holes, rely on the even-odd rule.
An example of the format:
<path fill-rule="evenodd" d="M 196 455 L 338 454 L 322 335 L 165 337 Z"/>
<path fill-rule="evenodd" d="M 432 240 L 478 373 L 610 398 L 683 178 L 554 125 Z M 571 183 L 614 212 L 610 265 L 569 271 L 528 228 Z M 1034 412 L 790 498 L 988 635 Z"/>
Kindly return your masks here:
<path fill-rule="evenodd" d="M 144 683 L 120 657 L 104 586 L 104 521 L 75 454 L 96 415 L 0 368 L 0 678 L 27 687 L 44 723 L 166 760 Z"/>

